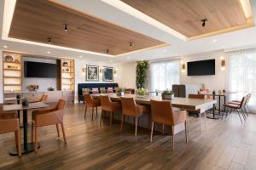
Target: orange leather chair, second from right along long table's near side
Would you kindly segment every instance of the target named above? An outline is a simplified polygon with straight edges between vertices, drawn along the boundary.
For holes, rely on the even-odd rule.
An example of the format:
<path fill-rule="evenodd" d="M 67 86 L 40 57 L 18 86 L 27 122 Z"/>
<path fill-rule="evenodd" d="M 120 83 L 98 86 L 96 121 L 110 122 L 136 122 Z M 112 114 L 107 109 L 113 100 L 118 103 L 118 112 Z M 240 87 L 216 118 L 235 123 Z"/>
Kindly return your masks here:
<path fill-rule="evenodd" d="M 133 116 L 135 122 L 135 136 L 137 136 L 138 117 L 148 114 L 150 111 L 145 105 L 137 105 L 133 98 L 121 98 L 121 104 L 123 110 L 121 131 L 123 130 L 125 116 Z"/>

